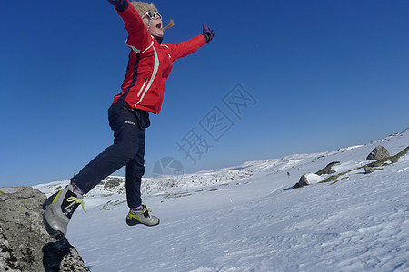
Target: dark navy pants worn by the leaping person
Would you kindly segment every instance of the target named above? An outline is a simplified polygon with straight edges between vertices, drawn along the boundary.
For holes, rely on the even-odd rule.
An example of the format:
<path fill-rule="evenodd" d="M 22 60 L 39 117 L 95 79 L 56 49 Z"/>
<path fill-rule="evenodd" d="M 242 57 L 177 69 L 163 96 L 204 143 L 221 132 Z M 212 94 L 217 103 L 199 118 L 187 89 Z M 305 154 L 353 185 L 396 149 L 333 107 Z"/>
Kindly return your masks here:
<path fill-rule="evenodd" d="M 145 173 L 145 129 L 149 113 L 131 109 L 116 102 L 108 110 L 109 126 L 114 131 L 114 144 L 91 160 L 71 179 L 84 193 L 101 180 L 126 165 L 126 199 L 129 208 L 141 205 L 141 179 Z"/>

